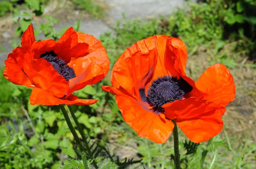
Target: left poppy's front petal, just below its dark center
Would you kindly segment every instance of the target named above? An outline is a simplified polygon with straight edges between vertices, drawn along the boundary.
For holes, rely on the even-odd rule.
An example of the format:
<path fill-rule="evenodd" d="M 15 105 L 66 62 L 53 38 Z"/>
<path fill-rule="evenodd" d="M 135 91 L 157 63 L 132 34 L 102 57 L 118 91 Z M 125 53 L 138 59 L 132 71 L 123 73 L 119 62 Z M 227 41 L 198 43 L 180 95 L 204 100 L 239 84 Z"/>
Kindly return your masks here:
<path fill-rule="evenodd" d="M 69 89 L 64 77 L 54 70 L 50 62 L 43 58 L 32 61 L 30 70 L 26 73 L 33 85 L 46 90 L 55 97 L 63 97 Z"/>

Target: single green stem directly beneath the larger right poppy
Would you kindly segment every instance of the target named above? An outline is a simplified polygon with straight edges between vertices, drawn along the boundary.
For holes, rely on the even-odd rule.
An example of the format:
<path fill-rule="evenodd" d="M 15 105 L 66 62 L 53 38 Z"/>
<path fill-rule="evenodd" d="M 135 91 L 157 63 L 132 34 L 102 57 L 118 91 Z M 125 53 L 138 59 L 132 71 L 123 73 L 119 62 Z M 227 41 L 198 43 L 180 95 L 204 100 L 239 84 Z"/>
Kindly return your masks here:
<path fill-rule="evenodd" d="M 176 122 L 173 120 L 174 128 L 173 128 L 173 142 L 174 142 L 174 164 L 175 169 L 180 169 L 180 152 L 179 152 L 179 135 L 178 135 L 178 127 Z"/>

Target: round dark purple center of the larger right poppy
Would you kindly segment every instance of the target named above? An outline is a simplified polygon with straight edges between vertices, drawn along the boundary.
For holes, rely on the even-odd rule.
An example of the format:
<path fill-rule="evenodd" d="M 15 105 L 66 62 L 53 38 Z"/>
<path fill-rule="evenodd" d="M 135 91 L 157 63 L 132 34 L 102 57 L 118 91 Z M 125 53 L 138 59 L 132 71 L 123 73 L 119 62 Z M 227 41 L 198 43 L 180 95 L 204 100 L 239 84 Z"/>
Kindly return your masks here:
<path fill-rule="evenodd" d="M 163 104 L 181 100 L 192 89 L 193 87 L 181 77 L 177 79 L 177 77 L 163 76 L 152 82 L 147 91 L 147 96 L 143 88 L 139 89 L 139 92 L 141 99 L 148 102 L 152 110 L 161 113 L 164 112 Z"/>

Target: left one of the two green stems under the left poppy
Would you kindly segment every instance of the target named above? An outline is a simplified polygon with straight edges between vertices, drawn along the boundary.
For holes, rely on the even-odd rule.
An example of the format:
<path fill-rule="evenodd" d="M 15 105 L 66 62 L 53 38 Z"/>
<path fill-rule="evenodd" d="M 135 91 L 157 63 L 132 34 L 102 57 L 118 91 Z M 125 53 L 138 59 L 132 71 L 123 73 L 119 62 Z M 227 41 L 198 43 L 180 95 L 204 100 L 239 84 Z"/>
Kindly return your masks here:
<path fill-rule="evenodd" d="M 83 148 L 83 146 L 82 146 L 82 144 L 81 144 L 81 141 L 80 141 L 80 139 L 79 139 L 79 137 L 78 137 L 78 135 L 77 135 L 77 133 L 76 133 L 75 128 L 73 127 L 73 125 L 72 125 L 72 123 L 71 123 L 71 121 L 70 121 L 70 118 L 69 118 L 69 116 L 68 116 L 68 114 L 67 114 L 67 110 L 65 109 L 65 107 L 64 107 L 63 104 L 60 104 L 59 107 L 61 108 L 61 111 L 62 111 L 62 113 L 63 113 L 63 115 L 64 115 L 64 118 L 65 118 L 65 120 L 66 120 L 66 122 L 67 122 L 67 126 L 69 127 L 69 129 L 70 129 L 72 135 L 73 135 L 74 138 L 75 138 L 76 144 L 79 145 L 79 149 L 80 149 L 80 151 L 82 152 L 82 161 L 83 161 L 83 163 L 84 163 L 84 168 L 85 168 L 85 169 L 88 169 L 86 157 L 85 157 L 85 156 L 84 156 L 85 158 L 83 157 L 83 155 L 84 155 L 84 148 Z"/>

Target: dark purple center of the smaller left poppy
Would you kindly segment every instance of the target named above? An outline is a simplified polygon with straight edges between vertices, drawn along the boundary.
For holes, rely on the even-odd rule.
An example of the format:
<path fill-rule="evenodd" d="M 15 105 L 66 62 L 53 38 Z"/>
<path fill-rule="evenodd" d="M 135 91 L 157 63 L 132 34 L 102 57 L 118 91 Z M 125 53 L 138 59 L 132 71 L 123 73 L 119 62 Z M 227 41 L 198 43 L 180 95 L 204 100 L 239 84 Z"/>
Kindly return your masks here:
<path fill-rule="evenodd" d="M 50 62 L 53 68 L 64 77 L 66 81 L 69 79 L 73 79 L 76 77 L 76 74 L 72 68 L 70 68 L 64 60 L 58 58 L 57 55 L 53 51 L 46 52 L 41 54 L 40 58 L 43 58 Z"/>

